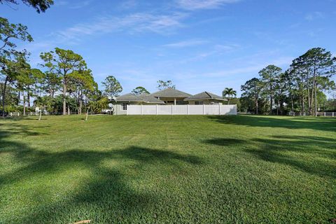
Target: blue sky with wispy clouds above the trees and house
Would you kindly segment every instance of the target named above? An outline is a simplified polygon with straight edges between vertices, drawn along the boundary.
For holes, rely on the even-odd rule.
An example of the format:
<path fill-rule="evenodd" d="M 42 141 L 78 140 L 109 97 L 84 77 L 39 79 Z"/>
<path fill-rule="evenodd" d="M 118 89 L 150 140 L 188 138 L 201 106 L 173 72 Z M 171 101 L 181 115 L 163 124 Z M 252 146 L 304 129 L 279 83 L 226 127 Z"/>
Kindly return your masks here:
<path fill-rule="evenodd" d="M 55 0 L 38 14 L 22 5 L 0 15 L 27 25 L 31 52 L 55 47 L 82 55 L 101 84 L 118 78 L 123 93 L 173 80 L 190 94 L 221 94 L 258 76 L 268 64 L 286 69 L 309 48 L 336 53 L 335 0 Z"/>

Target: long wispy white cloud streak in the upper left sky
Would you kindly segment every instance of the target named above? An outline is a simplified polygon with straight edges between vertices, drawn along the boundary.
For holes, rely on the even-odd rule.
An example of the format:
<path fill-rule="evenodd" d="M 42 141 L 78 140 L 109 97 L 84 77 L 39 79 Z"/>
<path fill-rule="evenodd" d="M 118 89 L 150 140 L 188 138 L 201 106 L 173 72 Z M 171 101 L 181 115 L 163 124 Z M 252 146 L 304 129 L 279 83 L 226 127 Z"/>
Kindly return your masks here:
<path fill-rule="evenodd" d="M 94 22 L 74 25 L 64 31 L 57 32 L 57 34 L 63 41 L 115 31 L 129 31 L 130 33 L 152 31 L 159 34 L 169 34 L 177 27 L 183 26 L 181 20 L 185 17 L 184 13 L 171 15 L 134 13 L 122 18 L 106 16 Z"/>

